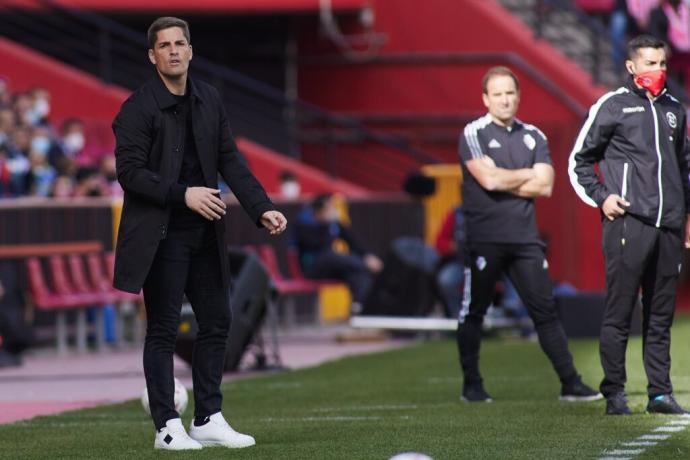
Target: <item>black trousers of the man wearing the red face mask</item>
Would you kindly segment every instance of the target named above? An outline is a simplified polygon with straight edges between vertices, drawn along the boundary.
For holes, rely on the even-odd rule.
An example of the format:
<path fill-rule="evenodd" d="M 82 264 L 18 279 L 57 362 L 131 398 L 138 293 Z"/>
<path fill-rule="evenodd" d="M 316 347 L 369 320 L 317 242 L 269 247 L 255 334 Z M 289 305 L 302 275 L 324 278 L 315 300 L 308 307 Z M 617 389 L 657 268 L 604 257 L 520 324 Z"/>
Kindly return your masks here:
<path fill-rule="evenodd" d="M 630 322 L 642 288 L 642 358 L 650 397 L 671 393 L 671 325 L 681 269 L 680 230 L 656 228 L 625 215 L 602 224 L 606 306 L 599 339 L 601 392 L 623 391 Z"/>

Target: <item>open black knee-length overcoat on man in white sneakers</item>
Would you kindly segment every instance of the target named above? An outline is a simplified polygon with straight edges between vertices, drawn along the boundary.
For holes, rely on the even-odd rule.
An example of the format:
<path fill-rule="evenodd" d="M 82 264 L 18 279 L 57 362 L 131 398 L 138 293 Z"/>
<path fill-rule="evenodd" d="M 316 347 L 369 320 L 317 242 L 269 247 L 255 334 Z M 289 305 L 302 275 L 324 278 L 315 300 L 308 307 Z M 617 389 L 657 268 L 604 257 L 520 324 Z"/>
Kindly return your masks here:
<path fill-rule="evenodd" d="M 257 226 L 266 211 L 275 209 L 261 184 L 238 154 L 218 91 L 199 80 L 187 79 L 194 141 L 207 187 L 217 188 L 218 173 Z M 113 121 L 117 179 L 125 192 L 115 252 L 115 288 L 139 292 L 166 237 L 171 190 L 184 154 L 185 119 L 177 100 L 156 76 L 134 92 Z M 229 281 L 225 254 L 225 224 L 215 221 L 222 278 Z M 228 215 L 234 219 L 236 216 Z"/>

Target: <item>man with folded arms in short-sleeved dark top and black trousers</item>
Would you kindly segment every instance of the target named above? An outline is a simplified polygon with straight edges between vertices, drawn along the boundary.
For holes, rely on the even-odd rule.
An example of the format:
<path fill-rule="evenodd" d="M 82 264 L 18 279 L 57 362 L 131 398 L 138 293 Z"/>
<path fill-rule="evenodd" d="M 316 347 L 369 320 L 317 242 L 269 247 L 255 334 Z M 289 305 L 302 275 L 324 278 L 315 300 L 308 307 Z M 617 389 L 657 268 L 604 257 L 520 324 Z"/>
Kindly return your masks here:
<path fill-rule="evenodd" d="M 496 281 L 504 272 L 527 306 L 539 343 L 558 374 L 561 399 L 601 398 L 582 383 L 573 365 L 537 231 L 534 198 L 551 194 L 554 177 L 546 136 L 515 118 L 520 93 L 510 69 L 490 69 L 482 86 L 489 113 L 468 124 L 460 136 L 467 235 L 457 331 L 462 399 L 491 401 L 479 373 L 480 336 Z"/>

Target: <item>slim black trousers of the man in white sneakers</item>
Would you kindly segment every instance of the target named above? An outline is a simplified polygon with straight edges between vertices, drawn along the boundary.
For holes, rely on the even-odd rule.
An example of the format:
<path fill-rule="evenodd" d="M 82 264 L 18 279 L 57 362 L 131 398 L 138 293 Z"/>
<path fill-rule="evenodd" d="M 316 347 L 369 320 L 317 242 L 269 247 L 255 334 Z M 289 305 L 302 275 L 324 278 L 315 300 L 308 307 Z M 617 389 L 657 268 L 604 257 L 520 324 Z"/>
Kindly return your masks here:
<path fill-rule="evenodd" d="M 144 373 L 156 429 L 179 417 L 174 405 L 173 352 L 183 294 L 199 325 L 192 358 L 194 415 L 206 417 L 220 411 L 220 383 L 231 321 L 221 276 L 213 224 L 170 228 L 144 283 Z"/>

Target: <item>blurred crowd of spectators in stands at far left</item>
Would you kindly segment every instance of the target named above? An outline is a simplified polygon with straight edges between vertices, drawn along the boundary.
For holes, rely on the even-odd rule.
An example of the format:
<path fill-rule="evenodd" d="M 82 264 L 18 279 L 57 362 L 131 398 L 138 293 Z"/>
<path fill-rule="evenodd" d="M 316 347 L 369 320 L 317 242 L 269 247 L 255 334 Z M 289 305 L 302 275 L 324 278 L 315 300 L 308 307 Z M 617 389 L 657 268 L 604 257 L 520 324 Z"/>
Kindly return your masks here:
<path fill-rule="evenodd" d="M 50 93 L 11 92 L 0 76 L 0 198 L 121 196 L 112 147 L 90 145 L 84 122 L 50 122 Z"/>

